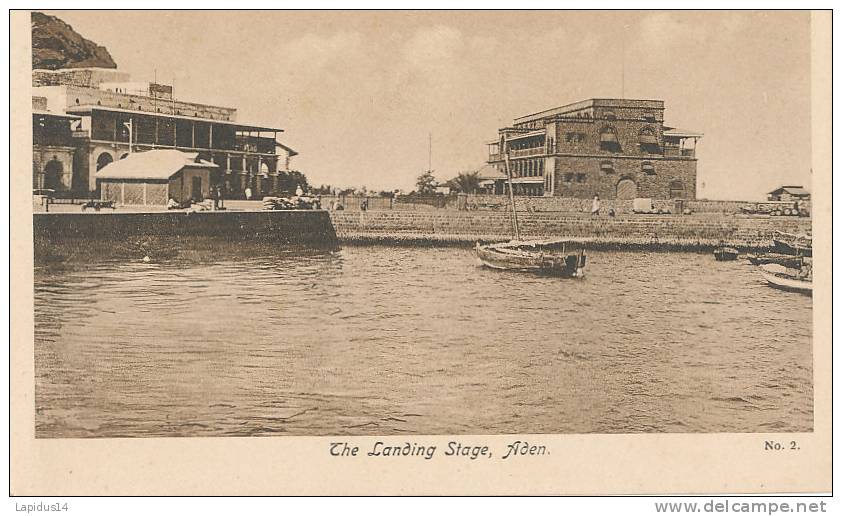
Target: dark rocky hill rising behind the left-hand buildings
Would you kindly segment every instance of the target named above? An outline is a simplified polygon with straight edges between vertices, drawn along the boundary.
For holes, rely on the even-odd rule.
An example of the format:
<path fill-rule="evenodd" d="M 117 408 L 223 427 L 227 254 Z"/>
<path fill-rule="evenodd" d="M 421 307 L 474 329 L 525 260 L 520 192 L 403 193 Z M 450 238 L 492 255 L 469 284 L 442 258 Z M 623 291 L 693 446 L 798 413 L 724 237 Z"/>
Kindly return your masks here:
<path fill-rule="evenodd" d="M 105 47 L 83 38 L 55 16 L 32 13 L 32 68 L 117 68 Z"/>

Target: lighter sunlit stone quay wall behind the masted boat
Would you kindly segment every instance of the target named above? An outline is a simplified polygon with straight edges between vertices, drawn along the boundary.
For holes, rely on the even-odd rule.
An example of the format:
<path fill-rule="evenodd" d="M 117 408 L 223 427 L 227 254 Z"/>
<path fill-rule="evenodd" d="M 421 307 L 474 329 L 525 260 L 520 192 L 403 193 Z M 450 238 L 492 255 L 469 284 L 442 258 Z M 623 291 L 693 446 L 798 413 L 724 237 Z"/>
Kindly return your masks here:
<path fill-rule="evenodd" d="M 330 214 L 342 243 L 472 245 L 512 235 L 505 211 L 367 211 Z M 522 239 L 569 239 L 590 248 L 709 250 L 720 242 L 741 250 L 763 250 L 776 231 L 806 233 L 809 218 L 705 215 L 518 214 Z"/>

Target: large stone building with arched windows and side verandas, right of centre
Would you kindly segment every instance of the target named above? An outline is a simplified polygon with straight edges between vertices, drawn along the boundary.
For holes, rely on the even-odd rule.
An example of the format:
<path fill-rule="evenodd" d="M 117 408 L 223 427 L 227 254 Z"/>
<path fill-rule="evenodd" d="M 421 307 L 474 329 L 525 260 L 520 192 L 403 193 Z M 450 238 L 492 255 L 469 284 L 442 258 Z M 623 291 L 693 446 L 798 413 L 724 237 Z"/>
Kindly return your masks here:
<path fill-rule="evenodd" d="M 661 100 L 590 99 L 515 119 L 488 162 L 505 172 L 508 153 L 518 195 L 695 199 L 701 137 L 665 126 Z"/>

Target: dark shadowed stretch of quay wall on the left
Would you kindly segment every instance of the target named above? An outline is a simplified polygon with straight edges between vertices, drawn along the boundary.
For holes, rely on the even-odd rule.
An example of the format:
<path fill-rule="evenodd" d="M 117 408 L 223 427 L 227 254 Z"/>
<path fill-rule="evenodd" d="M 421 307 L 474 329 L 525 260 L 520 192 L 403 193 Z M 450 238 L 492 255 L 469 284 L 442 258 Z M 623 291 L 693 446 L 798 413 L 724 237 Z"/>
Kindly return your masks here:
<path fill-rule="evenodd" d="M 319 246 L 337 243 L 330 216 L 323 210 L 35 213 L 33 231 L 36 248 L 60 240 L 130 237 L 247 238 Z"/>

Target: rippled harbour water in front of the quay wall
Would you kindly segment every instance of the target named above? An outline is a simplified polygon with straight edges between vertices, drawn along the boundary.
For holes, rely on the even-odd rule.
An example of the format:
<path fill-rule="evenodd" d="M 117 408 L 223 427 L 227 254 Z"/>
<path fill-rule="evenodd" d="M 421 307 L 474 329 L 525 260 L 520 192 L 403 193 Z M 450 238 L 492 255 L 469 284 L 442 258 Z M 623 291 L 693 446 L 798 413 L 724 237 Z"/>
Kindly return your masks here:
<path fill-rule="evenodd" d="M 809 431 L 812 300 L 746 262 L 84 246 L 35 271 L 38 437 Z"/>

